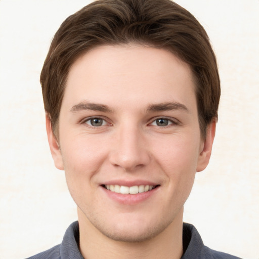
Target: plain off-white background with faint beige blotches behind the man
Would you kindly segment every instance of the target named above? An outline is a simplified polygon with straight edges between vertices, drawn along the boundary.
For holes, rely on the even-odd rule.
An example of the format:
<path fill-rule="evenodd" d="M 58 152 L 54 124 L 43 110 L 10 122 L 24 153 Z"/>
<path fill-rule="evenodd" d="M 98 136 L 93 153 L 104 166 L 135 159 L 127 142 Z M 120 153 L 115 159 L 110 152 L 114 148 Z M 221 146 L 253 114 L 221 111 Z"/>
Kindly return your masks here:
<path fill-rule="evenodd" d="M 204 243 L 259 258 L 259 1 L 179 0 L 207 30 L 222 98 L 212 158 L 185 206 Z M 0 258 L 61 242 L 76 220 L 45 133 L 39 73 L 61 22 L 89 1 L 0 0 Z"/>

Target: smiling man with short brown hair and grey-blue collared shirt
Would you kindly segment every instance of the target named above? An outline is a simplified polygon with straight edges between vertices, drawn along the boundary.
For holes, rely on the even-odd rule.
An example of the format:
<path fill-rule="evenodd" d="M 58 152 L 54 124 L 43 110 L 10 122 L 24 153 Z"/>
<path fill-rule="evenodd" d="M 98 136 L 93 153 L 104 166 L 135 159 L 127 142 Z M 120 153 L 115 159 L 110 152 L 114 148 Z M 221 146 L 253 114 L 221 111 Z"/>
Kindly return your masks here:
<path fill-rule="evenodd" d="M 68 17 L 40 76 L 78 222 L 30 258 L 237 258 L 183 206 L 210 158 L 220 79 L 198 21 L 169 0 L 100 0 Z"/>

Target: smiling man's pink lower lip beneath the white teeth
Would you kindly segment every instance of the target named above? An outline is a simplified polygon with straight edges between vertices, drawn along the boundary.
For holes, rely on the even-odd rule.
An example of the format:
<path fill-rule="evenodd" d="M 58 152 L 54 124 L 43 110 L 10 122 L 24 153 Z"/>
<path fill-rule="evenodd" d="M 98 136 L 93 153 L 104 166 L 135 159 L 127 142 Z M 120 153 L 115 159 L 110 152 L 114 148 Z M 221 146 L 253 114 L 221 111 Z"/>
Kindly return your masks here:
<path fill-rule="evenodd" d="M 145 201 L 151 196 L 153 196 L 159 190 L 159 186 L 158 186 L 148 192 L 142 192 L 137 194 L 121 194 L 121 193 L 111 192 L 104 187 L 101 187 L 101 188 L 106 193 L 106 195 L 108 195 L 109 198 L 121 204 L 129 204 L 129 205 L 133 205 L 133 204 L 137 204 L 142 201 Z"/>

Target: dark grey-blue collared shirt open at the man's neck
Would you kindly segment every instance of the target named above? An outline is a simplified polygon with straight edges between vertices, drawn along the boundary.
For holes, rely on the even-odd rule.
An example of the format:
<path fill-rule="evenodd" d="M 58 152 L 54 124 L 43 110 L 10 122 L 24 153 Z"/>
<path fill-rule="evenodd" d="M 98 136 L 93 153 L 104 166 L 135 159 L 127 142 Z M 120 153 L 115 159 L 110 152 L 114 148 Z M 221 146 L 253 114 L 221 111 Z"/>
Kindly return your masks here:
<path fill-rule="evenodd" d="M 68 227 L 61 244 L 27 259 L 83 259 L 78 244 L 79 226 L 76 221 Z M 196 228 L 188 223 L 183 225 L 183 247 L 181 259 L 240 259 L 204 246 Z"/>

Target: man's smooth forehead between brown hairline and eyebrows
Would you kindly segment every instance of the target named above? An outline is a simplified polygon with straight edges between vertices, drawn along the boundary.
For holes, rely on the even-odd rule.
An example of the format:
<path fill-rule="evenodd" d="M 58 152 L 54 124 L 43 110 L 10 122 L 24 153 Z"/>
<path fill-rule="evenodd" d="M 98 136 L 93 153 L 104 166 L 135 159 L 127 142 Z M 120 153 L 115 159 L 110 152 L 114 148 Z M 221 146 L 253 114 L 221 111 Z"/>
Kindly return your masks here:
<path fill-rule="evenodd" d="M 195 99 L 191 69 L 171 52 L 139 45 L 101 46 L 71 66 L 62 105 L 71 107 L 84 99 L 117 106 L 125 101 L 188 103 L 190 98 Z"/>

